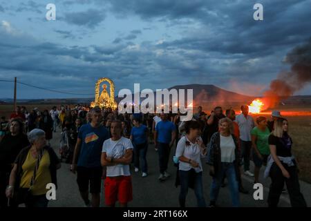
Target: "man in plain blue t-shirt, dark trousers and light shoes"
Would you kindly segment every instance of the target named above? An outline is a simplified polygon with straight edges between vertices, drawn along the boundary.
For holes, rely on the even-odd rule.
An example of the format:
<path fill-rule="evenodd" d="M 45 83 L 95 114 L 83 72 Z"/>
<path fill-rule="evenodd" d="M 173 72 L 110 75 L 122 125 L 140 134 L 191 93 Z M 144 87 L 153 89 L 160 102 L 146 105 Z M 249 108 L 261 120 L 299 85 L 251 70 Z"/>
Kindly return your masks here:
<path fill-rule="evenodd" d="M 161 114 L 161 121 L 158 122 L 154 131 L 154 144 L 158 148 L 160 162 L 159 180 L 164 181 L 169 177 L 167 165 L 169 164 L 169 152 L 176 139 L 176 126 L 168 120 L 168 115 Z"/>

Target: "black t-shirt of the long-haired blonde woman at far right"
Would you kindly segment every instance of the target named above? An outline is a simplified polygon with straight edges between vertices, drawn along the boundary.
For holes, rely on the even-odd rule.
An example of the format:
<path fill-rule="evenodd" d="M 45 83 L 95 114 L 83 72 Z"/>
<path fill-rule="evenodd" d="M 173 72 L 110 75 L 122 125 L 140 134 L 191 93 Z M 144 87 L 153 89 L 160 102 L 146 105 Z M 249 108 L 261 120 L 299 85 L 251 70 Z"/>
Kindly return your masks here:
<path fill-rule="evenodd" d="M 276 146 L 276 155 L 280 157 L 292 156 L 292 138 L 284 134 L 282 138 L 270 135 L 268 142 L 270 145 Z"/>

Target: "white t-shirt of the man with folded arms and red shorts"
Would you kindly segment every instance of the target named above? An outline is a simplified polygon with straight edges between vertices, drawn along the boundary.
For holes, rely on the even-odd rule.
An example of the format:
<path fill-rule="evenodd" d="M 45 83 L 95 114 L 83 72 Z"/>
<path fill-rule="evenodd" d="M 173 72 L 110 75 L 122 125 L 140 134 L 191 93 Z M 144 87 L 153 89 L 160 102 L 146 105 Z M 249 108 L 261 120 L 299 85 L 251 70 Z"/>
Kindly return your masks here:
<path fill-rule="evenodd" d="M 102 145 L 102 153 L 106 153 L 107 157 L 115 159 L 123 157 L 127 149 L 132 149 L 131 140 L 121 137 L 120 140 L 105 140 Z M 120 175 L 131 175 L 129 165 L 117 164 L 116 166 L 107 166 L 107 177 L 117 177 Z"/>

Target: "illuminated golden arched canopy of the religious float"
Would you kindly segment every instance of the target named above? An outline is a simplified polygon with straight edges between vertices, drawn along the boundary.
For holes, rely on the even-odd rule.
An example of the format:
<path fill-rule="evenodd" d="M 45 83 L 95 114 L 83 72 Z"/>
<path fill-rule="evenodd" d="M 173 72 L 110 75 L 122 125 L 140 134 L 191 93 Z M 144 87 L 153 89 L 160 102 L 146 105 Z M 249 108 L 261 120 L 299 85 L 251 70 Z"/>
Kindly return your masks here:
<path fill-rule="evenodd" d="M 108 93 L 107 85 L 102 82 L 107 81 L 109 83 L 110 95 Z M 100 93 L 100 84 L 102 84 L 102 92 Z M 97 80 L 95 84 L 95 101 L 91 103 L 91 107 L 100 106 L 100 108 L 117 108 L 117 102 L 115 102 L 115 84 L 108 77 L 102 77 Z"/>

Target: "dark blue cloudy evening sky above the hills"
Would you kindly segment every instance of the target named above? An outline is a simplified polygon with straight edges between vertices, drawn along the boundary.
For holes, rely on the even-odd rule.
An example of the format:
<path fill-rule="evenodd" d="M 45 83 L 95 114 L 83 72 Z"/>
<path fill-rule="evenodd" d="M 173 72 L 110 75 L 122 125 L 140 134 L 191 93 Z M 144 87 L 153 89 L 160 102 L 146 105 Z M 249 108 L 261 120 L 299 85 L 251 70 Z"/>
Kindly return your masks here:
<path fill-rule="evenodd" d="M 56 21 L 46 20 L 48 3 Z M 263 21 L 253 19 L 255 3 Z M 261 95 L 290 68 L 285 55 L 310 39 L 310 8 L 310 0 L 0 0 L 0 79 L 85 94 L 19 85 L 19 98 L 92 97 L 100 77 L 117 91 L 214 84 Z M 12 94 L 0 81 L 0 98 Z"/>

